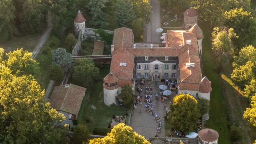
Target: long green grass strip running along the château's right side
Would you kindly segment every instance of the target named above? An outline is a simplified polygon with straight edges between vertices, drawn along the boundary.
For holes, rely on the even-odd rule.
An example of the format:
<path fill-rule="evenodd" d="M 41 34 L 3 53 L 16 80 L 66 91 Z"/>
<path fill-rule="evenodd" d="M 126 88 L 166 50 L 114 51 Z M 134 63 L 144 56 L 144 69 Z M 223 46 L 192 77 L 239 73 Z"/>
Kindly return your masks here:
<path fill-rule="evenodd" d="M 211 30 L 207 24 L 200 24 L 204 32 L 202 64 L 204 75 L 212 82 L 212 92 L 210 98 L 210 119 L 205 122 L 205 127 L 216 130 L 220 137 L 220 144 L 231 144 L 229 136 L 229 123 L 227 104 L 222 94 L 221 77 L 214 69 L 216 58 L 211 49 Z"/>

